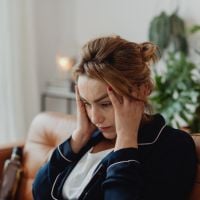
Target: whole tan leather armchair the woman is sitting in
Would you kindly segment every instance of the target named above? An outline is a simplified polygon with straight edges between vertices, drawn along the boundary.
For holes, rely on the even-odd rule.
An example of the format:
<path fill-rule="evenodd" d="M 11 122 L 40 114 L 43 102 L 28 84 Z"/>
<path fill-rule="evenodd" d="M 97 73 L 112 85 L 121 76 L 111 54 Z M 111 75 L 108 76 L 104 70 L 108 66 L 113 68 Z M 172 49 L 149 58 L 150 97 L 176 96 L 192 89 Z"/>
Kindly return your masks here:
<path fill-rule="evenodd" d="M 31 200 L 32 183 L 37 170 L 48 160 L 54 148 L 72 133 L 76 117 L 62 113 L 40 113 L 33 120 L 26 141 L 0 146 L 0 174 L 5 159 L 10 158 L 13 146 L 23 147 L 23 177 L 17 192 L 17 200 Z M 198 153 L 196 182 L 191 200 L 200 200 L 200 134 L 193 139 Z"/>

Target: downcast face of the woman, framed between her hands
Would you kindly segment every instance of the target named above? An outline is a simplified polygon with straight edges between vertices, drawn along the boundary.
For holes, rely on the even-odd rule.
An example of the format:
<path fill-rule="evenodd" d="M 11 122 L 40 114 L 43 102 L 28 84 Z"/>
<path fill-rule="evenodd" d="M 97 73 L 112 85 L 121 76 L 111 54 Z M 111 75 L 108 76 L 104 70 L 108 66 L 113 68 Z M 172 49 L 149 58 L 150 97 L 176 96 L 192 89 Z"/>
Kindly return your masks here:
<path fill-rule="evenodd" d="M 81 75 L 78 78 L 78 89 L 90 121 L 102 131 L 105 138 L 114 139 L 114 110 L 107 94 L 107 85 Z"/>

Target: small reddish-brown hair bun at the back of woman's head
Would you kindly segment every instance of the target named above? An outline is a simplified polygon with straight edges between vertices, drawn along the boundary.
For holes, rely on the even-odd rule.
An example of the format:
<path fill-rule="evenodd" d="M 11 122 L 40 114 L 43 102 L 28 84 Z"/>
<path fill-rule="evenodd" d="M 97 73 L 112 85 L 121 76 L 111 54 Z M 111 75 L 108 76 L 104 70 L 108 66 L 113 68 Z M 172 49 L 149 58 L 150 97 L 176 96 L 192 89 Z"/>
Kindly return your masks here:
<path fill-rule="evenodd" d="M 151 42 L 139 44 L 141 56 L 144 62 L 156 62 L 160 57 L 158 46 Z"/>

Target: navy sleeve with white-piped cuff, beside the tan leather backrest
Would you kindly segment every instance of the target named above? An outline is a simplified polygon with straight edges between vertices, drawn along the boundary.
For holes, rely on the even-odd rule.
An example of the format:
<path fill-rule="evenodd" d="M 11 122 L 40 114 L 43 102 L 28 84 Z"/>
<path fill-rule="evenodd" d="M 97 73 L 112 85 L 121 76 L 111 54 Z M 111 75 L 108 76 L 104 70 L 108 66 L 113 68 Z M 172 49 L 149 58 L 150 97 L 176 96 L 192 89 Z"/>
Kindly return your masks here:
<path fill-rule="evenodd" d="M 53 151 L 50 160 L 37 172 L 32 187 L 35 200 L 51 199 L 51 189 L 59 173 L 77 160 L 78 154 L 73 153 L 70 139 L 60 144 Z"/>

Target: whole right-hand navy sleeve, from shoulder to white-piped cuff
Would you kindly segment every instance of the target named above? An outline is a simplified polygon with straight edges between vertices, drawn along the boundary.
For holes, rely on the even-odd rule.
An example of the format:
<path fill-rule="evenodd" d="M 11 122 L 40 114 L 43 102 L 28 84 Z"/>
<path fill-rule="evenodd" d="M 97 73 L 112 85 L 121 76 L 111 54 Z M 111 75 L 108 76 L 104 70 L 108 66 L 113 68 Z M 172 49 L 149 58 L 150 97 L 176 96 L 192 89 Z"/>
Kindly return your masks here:
<path fill-rule="evenodd" d="M 134 148 L 113 152 L 104 200 L 188 200 L 196 174 L 195 145 L 184 132 L 171 135 L 149 147 L 145 161 Z"/>

